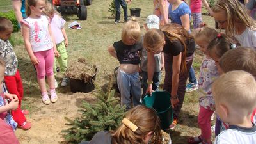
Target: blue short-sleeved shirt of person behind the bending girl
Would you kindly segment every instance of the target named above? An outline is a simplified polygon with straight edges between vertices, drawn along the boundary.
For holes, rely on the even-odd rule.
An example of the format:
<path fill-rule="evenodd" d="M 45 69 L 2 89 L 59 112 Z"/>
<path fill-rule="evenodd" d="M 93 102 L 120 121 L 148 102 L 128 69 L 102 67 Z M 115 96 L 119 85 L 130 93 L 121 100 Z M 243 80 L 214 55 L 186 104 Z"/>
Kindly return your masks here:
<path fill-rule="evenodd" d="M 190 9 L 189 9 L 188 4 L 182 2 L 182 3 L 178 6 L 178 8 L 176 8 L 175 10 L 172 10 L 172 4 L 170 4 L 168 17 L 172 20 L 172 23 L 182 25 L 181 20 L 180 20 L 180 17 L 181 17 L 182 15 L 186 15 L 186 14 L 189 14 L 189 20 L 190 20 L 191 11 L 190 11 Z"/>

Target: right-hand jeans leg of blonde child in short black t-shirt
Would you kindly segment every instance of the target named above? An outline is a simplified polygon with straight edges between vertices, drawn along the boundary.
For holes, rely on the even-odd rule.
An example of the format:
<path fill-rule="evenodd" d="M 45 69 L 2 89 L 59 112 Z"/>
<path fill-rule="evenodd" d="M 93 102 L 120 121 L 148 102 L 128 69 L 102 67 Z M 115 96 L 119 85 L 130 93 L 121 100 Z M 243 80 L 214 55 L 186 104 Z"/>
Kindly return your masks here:
<path fill-rule="evenodd" d="M 133 106 L 137 106 L 141 104 L 140 103 L 141 83 L 140 83 L 139 72 L 136 72 L 136 74 L 134 75 L 130 75 L 130 84 L 131 84 Z"/>

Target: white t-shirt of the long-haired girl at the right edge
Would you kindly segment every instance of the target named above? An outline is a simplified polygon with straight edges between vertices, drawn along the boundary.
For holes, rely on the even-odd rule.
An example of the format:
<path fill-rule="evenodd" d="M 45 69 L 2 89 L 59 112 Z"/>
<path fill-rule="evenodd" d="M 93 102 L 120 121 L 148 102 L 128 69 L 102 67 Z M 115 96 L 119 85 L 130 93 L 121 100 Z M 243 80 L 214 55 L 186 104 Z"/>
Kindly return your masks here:
<path fill-rule="evenodd" d="M 253 47 L 256 49 L 256 31 L 246 28 L 241 35 L 235 35 L 235 38 L 242 47 Z"/>

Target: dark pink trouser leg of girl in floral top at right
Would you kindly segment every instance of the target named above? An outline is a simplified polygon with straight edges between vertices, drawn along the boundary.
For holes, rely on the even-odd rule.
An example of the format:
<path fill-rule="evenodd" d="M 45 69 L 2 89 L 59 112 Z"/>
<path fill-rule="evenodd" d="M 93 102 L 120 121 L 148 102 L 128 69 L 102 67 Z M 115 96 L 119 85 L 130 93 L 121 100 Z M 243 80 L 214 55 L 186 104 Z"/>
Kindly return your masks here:
<path fill-rule="evenodd" d="M 204 142 L 211 143 L 211 116 L 214 111 L 200 106 L 198 125 L 201 129 L 201 136 Z"/>

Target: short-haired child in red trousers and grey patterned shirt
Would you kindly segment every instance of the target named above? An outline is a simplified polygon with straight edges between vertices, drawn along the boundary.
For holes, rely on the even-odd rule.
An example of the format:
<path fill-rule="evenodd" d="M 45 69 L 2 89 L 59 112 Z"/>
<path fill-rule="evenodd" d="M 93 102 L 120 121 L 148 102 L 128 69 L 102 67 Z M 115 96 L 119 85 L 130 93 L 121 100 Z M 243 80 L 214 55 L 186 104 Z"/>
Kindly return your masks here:
<path fill-rule="evenodd" d="M 28 115 L 29 112 L 27 110 L 21 110 L 23 86 L 18 70 L 18 60 L 13 51 L 13 47 L 8 40 L 12 31 L 12 22 L 4 17 L 0 17 L 0 55 L 6 62 L 4 80 L 9 93 L 17 95 L 19 99 L 19 107 L 16 110 L 12 110 L 12 116 L 20 129 L 28 130 L 31 127 L 31 123 L 26 121 L 24 115 Z"/>

